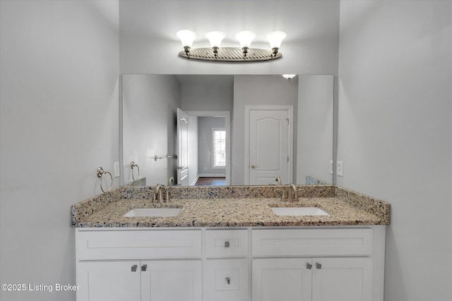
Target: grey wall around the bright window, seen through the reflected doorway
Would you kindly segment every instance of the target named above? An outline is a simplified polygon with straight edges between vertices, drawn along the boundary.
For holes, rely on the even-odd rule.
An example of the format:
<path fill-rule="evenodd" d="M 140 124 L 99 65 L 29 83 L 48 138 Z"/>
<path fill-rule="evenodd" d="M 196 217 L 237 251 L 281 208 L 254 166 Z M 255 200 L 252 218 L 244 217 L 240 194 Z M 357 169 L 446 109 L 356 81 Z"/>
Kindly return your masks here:
<path fill-rule="evenodd" d="M 198 174 L 201 176 L 225 176 L 226 168 L 212 168 L 213 128 L 225 128 L 224 117 L 198 118 Z"/>

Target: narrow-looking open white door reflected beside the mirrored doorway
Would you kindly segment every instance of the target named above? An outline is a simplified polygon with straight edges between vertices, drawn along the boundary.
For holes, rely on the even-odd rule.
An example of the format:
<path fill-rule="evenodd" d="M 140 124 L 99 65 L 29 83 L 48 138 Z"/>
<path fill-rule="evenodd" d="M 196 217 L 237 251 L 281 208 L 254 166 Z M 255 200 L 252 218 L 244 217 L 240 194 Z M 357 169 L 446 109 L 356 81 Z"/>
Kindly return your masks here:
<path fill-rule="evenodd" d="M 189 185 L 189 115 L 177 108 L 177 184 Z"/>

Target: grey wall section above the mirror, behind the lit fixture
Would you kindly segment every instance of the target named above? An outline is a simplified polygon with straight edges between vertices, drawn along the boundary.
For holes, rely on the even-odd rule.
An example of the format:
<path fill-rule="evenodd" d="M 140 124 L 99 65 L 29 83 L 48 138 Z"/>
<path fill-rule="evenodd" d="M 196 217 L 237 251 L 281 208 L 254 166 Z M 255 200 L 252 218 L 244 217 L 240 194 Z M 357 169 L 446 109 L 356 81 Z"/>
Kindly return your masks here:
<path fill-rule="evenodd" d="M 338 70 L 339 1 L 127 0 L 119 4 L 121 72 L 162 74 L 335 74 Z M 210 47 L 206 32 L 221 30 L 225 47 L 235 34 L 254 30 L 253 47 L 268 49 L 265 35 L 287 32 L 283 58 L 265 63 L 206 63 L 178 57 L 181 29 L 198 33 L 194 47 Z"/>

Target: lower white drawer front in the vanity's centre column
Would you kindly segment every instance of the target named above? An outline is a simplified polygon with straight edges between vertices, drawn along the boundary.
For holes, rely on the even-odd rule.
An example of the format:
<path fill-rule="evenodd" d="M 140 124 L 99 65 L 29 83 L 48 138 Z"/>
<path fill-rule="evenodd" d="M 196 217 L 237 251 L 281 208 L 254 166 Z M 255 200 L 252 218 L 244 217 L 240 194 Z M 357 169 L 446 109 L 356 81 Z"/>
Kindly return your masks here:
<path fill-rule="evenodd" d="M 204 300 L 249 300 L 248 259 L 207 259 L 203 274 Z"/>

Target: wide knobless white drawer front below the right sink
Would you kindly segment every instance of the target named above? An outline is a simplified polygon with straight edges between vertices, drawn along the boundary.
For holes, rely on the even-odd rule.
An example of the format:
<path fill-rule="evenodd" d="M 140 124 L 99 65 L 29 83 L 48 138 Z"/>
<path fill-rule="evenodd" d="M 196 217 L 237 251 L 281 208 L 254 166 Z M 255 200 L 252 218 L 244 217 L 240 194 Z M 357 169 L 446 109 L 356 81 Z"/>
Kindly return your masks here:
<path fill-rule="evenodd" d="M 253 256 L 368 256 L 372 229 L 256 229 L 252 232 Z"/>

